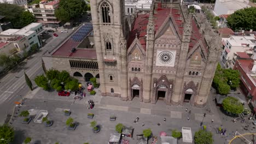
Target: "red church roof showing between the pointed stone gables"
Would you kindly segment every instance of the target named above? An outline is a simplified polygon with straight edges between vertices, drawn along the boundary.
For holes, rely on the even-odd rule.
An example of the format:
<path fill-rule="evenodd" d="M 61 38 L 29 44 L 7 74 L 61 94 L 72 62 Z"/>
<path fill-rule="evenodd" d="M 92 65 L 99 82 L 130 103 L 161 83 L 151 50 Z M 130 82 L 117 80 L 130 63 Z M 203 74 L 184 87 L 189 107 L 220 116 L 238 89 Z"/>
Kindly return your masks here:
<path fill-rule="evenodd" d="M 178 28 L 178 33 L 182 35 L 183 33 L 183 22 L 182 22 L 182 15 L 178 14 L 178 9 L 171 9 L 171 8 L 161 8 L 161 4 L 158 3 L 157 12 L 154 15 L 154 22 L 155 22 L 155 33 L 158 32 L 159 28 L 164 24 L 164 21 L 171 14 L 172 18 L 174 19 L 174 25 Z M 147 24 L 148 24 L 149 14 L 142 14 L 138 15 L 137 19 L 135 20 L 135 24 L 132 28 L 130 33 L 130 37 L 127 41 L 127 47 L 130 47 L 133 40 L 138 35 L 139 42 L 141 43 L 143 49 L 146 51 L 146 34 L 147 34 Z M 182 19 L 181 19 L 182 18 Z M 191 43 L 189 44 L 189 49 L 193 48 L 194 45 L 202 39 L 202 34 L 199 32 L 199 28 L 197 28 L 197 24 L 195 20 L 192 20 L 192 35 L 191 35 Z M 204 42 L 203 42 L 204 44 Z M 205 49 L 206 52 L 208 51 Z"/>

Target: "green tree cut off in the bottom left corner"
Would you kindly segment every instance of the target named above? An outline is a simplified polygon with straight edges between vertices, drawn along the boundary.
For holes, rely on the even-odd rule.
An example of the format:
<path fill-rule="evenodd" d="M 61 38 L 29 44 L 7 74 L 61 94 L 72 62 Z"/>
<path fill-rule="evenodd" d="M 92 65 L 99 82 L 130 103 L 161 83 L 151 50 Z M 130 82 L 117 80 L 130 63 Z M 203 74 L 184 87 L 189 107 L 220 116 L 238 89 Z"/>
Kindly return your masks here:
<path fill-rule="evenodd" d="M 0 126 L 0 138 L 4 140 L 0 140 L 1 144 L 9 144 L 14 140 L 14 129 L 10 127 L 8 124 L 4 124 Z"/>

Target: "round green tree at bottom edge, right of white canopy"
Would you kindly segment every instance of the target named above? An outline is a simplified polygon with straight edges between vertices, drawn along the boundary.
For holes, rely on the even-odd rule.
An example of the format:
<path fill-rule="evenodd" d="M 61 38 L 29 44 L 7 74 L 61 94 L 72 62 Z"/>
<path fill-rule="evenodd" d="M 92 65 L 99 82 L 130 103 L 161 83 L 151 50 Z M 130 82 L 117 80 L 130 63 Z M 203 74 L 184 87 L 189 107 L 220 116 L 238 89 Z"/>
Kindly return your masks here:
<path fill-rule="evenodd" d="M 195 144 L 212 144 L 212 133 L 206 130 L 199 130 L 195 133 Z"/>

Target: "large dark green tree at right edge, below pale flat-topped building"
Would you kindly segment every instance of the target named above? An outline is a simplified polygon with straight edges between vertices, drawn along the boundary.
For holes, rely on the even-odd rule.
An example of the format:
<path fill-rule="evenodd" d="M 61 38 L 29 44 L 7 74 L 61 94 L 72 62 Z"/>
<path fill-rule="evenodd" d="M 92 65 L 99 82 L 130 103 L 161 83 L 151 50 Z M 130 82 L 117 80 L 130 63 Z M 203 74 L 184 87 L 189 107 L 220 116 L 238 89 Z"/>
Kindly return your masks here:
<path fill-rule="evenodd" d="M 256 30 L 256 7 L 245 8 L 236 10 L 226 20 L 228 27 L 233 31 L 243 30 L 249 31 L 250 29 Z"/>

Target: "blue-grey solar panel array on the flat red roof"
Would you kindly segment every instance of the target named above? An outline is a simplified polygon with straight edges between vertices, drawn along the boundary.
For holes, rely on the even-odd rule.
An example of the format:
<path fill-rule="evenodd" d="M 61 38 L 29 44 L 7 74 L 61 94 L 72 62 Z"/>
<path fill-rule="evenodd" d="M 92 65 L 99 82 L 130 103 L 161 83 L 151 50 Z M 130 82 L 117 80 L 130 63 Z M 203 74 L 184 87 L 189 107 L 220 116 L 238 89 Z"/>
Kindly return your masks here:
<path fill-rule="evenodd" d="M 72 37 L 73 41 L 82 41 L 92 31 L 92 24 L 85 23 Z"/>

